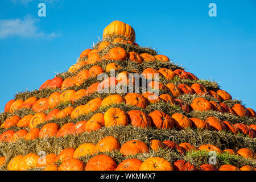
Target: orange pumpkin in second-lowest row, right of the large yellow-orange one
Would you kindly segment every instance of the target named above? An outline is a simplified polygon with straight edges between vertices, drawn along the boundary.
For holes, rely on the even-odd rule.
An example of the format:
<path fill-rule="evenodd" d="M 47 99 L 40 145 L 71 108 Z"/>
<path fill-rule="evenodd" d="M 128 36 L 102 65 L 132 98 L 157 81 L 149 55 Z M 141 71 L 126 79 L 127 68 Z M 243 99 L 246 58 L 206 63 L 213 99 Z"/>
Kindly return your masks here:
<path fill-rule="evenodd" d="M 141 140 L 130 140 L 121 146 L 120 153 L 125 156 L 148 153 L 148 147 Z"/>

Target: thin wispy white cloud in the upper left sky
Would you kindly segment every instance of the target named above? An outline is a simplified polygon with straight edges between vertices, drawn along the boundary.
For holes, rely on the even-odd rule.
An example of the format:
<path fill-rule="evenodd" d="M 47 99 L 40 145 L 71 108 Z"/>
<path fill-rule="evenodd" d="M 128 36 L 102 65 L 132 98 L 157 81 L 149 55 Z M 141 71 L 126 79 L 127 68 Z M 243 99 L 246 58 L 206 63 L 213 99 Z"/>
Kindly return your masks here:
<path fill-rule="evenodd" d="M 0 20 L 0 39 L 7 38 L 8 36 L 19 36 L 22 38 L 56 38 L 61 36 L 55 32 L 46 34 L 39 30 L 36 26 L 38 19 L 32 18 L 27 15 L 24 18 L 16 19 L 2 19 Z"/>

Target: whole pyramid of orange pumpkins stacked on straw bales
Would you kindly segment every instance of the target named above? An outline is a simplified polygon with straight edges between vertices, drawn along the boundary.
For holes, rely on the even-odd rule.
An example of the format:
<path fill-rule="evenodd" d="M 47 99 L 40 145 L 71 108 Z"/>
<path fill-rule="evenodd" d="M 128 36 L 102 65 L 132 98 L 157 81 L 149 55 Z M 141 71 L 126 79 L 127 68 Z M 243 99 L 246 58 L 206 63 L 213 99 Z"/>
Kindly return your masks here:
<path fill-rule="evenodd" d="M 114 21 L 0 114 L 2 170 L 253 170 L 255 111 Z M 102 164 L 102 165 L 101 165 Z"/>

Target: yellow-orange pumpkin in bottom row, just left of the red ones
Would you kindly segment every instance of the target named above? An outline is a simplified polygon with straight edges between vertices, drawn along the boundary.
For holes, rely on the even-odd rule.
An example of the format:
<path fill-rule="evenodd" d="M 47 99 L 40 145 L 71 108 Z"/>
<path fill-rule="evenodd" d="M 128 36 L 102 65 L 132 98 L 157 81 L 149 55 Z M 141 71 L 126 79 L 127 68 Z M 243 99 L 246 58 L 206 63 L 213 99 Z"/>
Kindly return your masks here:
<path fill-rule="evenodd" d="M 164 158 L 151 157 L 144 160 L 139 171 L 174 171 L 174 166 Z"/>

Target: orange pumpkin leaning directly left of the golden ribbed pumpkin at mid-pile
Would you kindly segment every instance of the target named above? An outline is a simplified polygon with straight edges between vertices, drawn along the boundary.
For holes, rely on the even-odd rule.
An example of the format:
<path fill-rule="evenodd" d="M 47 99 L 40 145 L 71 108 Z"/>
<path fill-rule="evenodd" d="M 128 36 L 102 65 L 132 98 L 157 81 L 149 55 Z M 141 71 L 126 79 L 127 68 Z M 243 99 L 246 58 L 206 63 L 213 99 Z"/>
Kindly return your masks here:
<path fill-rule="evenodd" d="M 85 131 L 97 131 L 101 129 L 101 127 L 105 126 L 104 114 L 97 113 L 94 114 L 86 123 L 85 123 Z"/>

